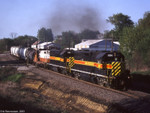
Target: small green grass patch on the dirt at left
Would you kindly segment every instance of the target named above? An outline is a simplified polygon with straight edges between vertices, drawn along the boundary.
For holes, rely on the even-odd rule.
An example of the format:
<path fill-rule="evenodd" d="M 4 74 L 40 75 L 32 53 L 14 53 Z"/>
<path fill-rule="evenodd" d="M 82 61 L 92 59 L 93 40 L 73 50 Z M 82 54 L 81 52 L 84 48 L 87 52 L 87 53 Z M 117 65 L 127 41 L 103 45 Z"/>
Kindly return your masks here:
<path fill-rule="evenodd" d="M 23 74 L 14 74 L 10 75 L 7 78 L 4 78 L 3 81 L 12 81 L 12 82 L 18 82 L 24 75 Z"/>

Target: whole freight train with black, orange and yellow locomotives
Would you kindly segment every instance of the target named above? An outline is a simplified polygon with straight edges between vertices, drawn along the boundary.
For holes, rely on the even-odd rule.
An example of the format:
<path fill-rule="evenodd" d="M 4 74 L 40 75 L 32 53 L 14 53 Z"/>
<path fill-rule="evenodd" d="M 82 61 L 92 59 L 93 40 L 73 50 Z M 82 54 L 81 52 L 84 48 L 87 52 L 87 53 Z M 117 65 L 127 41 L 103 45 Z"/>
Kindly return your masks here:
<path fill-rule="evenodd" d="M 124 56 L 117 51 L 74 51 L 56 48 L 35 50 L 11 47 L 10 53 L 36 66 L 42 65 L 78 79 L 84 74 L 99 85 L 127 89 L 131 84 Z"/>

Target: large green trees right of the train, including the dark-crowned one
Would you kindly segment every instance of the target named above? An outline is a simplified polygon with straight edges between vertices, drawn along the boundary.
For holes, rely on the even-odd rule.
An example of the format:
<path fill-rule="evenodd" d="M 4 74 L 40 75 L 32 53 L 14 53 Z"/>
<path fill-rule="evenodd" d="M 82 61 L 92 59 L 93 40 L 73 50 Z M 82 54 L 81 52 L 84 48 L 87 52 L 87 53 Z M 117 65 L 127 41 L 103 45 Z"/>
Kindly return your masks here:
<path fill-rule="evenodd" d="M 150 68 L 150 12 L 145 12 L 138 23 L 133 23 L 122 13 L 114 14 L 107 21 L 115 28 L 107 31 L 105 36 L 119 40 L 128 67 L 132 70 Z"/>

